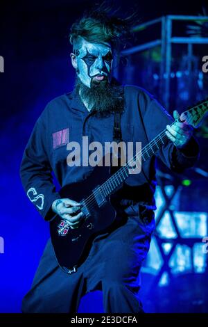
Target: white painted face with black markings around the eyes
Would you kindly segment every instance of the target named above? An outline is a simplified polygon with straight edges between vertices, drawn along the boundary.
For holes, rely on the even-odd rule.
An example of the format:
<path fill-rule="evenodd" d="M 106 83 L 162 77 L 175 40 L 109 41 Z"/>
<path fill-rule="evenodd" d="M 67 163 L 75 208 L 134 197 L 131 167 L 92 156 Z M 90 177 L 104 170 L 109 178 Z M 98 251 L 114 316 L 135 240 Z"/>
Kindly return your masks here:
<path fill-rule="evenodd" d="M 83 39 L 83 45 L 75 51 L 79 79 L 91 88 L 92 79 L 110 81 L 112 70 L 112 49 L 109 44 L 90 43 Z"/>

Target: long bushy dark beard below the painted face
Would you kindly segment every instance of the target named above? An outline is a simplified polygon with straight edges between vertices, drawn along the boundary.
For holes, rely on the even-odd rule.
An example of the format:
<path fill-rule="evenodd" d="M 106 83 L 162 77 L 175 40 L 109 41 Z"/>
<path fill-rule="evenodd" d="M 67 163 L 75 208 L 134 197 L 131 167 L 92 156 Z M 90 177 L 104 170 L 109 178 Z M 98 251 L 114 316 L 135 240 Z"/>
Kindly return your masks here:
<path fill-rule="evenodd" d="M 111 83 L 107 79 L 92 81 L 92 87 L 88 88 L 76 77 L 75 90 L 89 106 L 92 106 L 91 110 L 99 115 L 107 115 L 111 111 L 123 108 L 123 87 L 114 78 Z"/>

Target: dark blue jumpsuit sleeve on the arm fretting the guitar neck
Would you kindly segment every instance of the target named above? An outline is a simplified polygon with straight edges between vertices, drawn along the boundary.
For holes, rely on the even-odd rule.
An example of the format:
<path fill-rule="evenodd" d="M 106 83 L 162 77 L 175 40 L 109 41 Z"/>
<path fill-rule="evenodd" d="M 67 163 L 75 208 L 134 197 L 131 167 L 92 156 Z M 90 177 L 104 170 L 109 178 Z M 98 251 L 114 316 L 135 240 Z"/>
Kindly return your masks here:
<path fill-rule="evenodd" d="M 139 99 L 139 105 L 145 106 L 144 127 L 150 142 L 166 125 L 173 122 L 173 118 L 149 93 L 144 92 Z M 191 136 L 189 142 L 182 148 L 175 147 L 173 142 L 168 140 L 157 152 L 156 157 L 161 159 L 168 168 L 176 173 L 182 173 L 184 169 L 194 166 L 199 157 L 199 146 L 196 139 Z"/>

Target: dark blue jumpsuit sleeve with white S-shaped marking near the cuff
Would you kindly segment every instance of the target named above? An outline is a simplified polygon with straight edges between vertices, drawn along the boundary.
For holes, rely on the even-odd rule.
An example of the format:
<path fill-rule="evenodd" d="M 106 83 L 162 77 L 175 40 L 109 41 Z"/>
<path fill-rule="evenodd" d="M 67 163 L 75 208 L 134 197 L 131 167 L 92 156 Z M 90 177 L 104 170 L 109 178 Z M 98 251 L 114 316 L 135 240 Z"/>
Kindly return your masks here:
<path fill-rule="evenodd" d="M 50 221 L 55 216 L 51 205 L 60 195 L 55 191 L 46 148 L 46 128 L 39 118 L 24 150 L 20 177 L 29 200 L 42 217 Z"/>

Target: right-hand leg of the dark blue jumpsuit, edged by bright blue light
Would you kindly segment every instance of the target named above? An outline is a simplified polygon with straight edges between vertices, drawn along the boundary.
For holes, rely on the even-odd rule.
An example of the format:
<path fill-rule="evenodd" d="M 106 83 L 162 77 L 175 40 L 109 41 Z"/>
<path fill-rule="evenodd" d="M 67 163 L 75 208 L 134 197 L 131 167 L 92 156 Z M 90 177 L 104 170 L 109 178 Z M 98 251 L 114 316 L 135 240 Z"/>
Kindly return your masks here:
<path fill-rule="evenodd" d="M 103 290 L 106 313 L 144 312 L 138 297 L 141 264 L 150 246 L 151 233 L 139 228 L 133 217 L 106 239 L 94 241 L 87 290 Z M 96 260 L 96 261 L 95 261 Z"/>

